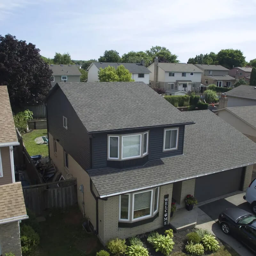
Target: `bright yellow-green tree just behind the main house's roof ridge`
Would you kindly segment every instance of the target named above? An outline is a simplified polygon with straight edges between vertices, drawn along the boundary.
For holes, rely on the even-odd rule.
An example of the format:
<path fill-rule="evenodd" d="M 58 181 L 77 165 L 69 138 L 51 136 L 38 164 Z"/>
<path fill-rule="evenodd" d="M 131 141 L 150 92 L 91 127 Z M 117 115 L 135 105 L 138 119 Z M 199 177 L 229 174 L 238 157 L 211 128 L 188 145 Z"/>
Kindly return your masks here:
<path fill-rule="evenodd" d="M 98 71 L 100 82 L 133 82 L 130 71 L 120 65 L 117 68 L 108 66 Z"/>

